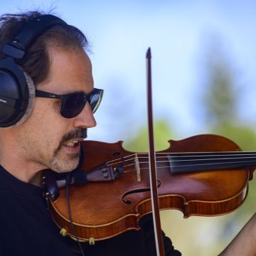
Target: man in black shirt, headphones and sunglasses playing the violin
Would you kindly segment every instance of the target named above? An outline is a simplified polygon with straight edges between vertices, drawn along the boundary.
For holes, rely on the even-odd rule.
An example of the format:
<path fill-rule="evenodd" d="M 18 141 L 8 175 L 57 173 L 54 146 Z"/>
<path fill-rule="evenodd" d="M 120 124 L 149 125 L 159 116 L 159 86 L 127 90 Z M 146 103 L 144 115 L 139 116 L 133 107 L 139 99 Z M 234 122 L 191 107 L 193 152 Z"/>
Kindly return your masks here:
<path fill-rule="evenodd" d="M 0 255 L 155 255 L 150 216 L 139 232 L 81 249 L 60 235 L 43 198 L 42 170 L 78 166 L 102 90 L 93 87 L 78 28 L 38 12 L 4 15 L 0 23 Z M 164 244 L 166 255 L 181 255 L 165 236 Z"/>

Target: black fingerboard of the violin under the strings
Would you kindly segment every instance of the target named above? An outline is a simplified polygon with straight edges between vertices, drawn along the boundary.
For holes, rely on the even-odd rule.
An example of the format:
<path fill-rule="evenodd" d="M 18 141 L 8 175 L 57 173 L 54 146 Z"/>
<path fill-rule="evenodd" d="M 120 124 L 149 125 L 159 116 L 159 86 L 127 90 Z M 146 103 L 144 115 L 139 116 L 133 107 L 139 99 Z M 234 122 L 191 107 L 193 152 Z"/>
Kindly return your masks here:
<path fill-rule="evenodd" d="M 167 154 L 171 174 L 256 166 L 256 152 L 209 152 Z"/>

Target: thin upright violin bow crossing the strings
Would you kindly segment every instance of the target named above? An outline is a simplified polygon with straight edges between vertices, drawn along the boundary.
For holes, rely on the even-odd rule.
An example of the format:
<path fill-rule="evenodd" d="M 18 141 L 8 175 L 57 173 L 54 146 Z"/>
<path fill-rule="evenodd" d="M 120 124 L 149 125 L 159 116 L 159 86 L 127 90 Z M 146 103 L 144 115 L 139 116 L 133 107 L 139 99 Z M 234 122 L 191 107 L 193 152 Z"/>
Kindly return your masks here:
<path fill-rule="evenodd" d="M 154 222 L 154 235 L 156 241 L 156 255 L 164 256 L 164 242 L 161 233 L 161 222 L 159 213 L 159 200 L 157 193 L 156 178 L 156 153 L 154 150 L 154 129 L 153 129 L 153 107 L 151 89 L 151 50 L 146 51 L 146 75 L 147 75 L 147 107 L 148 107 L 148 129 L 149 129 L 149 174 L 151 206 Z"/>

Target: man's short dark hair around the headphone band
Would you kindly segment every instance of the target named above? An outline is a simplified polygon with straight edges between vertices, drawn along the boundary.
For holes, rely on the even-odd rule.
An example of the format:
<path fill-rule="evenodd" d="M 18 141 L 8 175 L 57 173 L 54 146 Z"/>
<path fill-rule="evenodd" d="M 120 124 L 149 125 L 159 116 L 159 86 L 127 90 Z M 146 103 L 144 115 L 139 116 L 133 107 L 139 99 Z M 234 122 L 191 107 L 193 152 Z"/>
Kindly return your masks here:
<path fill-rule="evenodd" d="M 4 14 L 0 16 L 0 50 L 6 43 L 18 33 L 21 26 L 33 18 L 43 15 L 39 11 L 29 11 L 21 14 Z M 16 60 L 16 63 L 31 76 L 35 85 L 47 80 L 50 70 L 49 47 L 75 49 L 87 46 L 85 35 L 74 26 L 55 25 L 46 30 L 36 41 L 26 50 L 23 58 Z M 4 53 L 0 53 L 0 58 L 4 58 Z"/>

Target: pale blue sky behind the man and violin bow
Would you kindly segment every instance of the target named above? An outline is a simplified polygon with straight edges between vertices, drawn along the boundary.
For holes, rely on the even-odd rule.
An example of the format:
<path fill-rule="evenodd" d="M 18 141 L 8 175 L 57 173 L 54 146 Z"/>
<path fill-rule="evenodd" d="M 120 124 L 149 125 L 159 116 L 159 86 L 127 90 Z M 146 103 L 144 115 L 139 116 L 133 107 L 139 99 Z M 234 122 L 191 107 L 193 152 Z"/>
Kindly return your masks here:
<path fill-rule="evenodd" d="M 1 14 L 51 7 L 89 38 L 95 87 L 105 90 L 90 139 L 115 142 L 146 124 L 145 54 L 149 46 L 154 119 L 166 119 L 179 138 L 206 132 L 198 95 L 204 56 L 214 38 L 238 70 L 240 115 L 245 122 L 254 122 L 254 1 L 9 0 L 1 3 Z"/>

